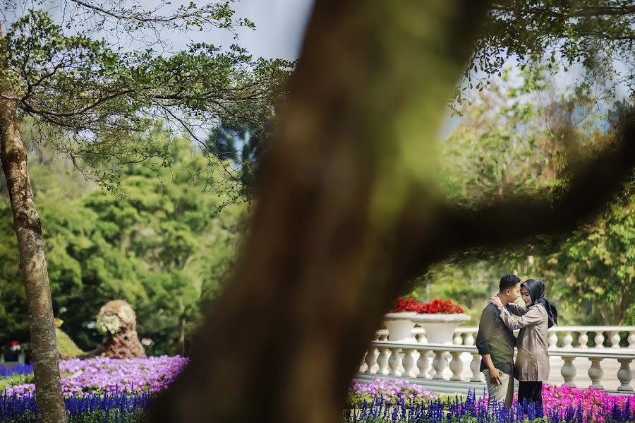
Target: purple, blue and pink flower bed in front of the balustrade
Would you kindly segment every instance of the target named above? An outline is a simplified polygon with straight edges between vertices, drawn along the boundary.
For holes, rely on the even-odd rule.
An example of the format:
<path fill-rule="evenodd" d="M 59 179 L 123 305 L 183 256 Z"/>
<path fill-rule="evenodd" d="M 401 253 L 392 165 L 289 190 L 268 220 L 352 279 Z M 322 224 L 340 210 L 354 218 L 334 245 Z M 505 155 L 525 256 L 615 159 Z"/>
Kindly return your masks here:
<path fill-rule="evenodd" d="M 345 422 L 487 422 L 488 395 L 476 397 L 470 391 L 462 395 L 437 397 L 413 383 L 373 379 L 370 383 L 353 382 Z M 512 410 L 499 403 L 492 422 L 527 423 L 627 423 L 635 422 L 635 396 L 610 395 L 597 389 L 558 388 L 545 384 L 543 410 L 533 404 L 519 405 L 514 398 Z M 454 420 L 452 420 L 452 418 Z"/>

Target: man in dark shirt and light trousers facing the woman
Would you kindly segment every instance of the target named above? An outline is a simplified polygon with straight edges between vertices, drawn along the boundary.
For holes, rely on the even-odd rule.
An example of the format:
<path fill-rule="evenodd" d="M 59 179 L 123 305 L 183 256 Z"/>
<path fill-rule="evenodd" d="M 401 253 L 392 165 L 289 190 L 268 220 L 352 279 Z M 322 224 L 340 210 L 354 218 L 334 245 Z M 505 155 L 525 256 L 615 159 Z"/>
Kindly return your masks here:
<path fill-rule="evenodd" d="M 488 412 L 493 412 L 495 401 L 504 401 L 507 408 L 512 407 L 514 397 L 514 345 L 516 338 L 500 318 L 503 306 L 515 302 L 520 295 L 520 278 L 516 275 L 504 275 L 498 285 L 498 297 L 502 306 L 488 304 L 480 314 L 476 348 L 481 356 L 480 371 L 485 374 L 488 384 Z"/>

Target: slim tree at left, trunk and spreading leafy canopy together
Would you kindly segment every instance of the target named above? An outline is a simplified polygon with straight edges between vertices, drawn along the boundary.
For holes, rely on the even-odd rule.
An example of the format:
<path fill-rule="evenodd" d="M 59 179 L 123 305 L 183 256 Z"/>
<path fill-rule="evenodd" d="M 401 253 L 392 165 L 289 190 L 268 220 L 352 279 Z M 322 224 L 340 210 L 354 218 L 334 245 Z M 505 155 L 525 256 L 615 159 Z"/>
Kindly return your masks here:
<path fill-rule="evenodd" d="M 0 34 L 1 160 L 29 306 L 38 418 L 44 423 L 65 422 L 66 414 L 40 218 L 30 189 L 20 117 L 32 118 L 42 142 L 55 142 L 52 146 L 70 156 L 87 177 L 112 188 L 126 162 L 160 157 L 162 166 L 170 165 L 167 150 L 153 143 L 147 131 L 159 117 L 181 124 L 193 138 L 198 138 L 196 122 L 259 121 L 272 115 L 277 86 L 289 66 L 284 61 L 254 60 L 238 47 L 223 53 L 209 44 L 193 44 L 186 52 L 166 57 L 150 48 L 120 52 L 104 40 L 90 38 L 99 30 L 148 30 L 161 42 L 166 28 L 253 26 L 233 18 L 231 1 L 176 8 L 167 1 L 151 9 L 125 1 L 107 6 L 90 0 L 68 3 L 73 8 L 63 10 L 73 16 L 63 19 L 82 18 L 85 25 L 95 25 L 66 35 L 48 13 L 29 8 L 6 28 L 6 35 Z M 15 1 L 5 6 L 7 13 L 21 10 Z M 164 14 L 165 9 L 171 11 Z M 230 174 L 231 169 L 219 172 Z"/>

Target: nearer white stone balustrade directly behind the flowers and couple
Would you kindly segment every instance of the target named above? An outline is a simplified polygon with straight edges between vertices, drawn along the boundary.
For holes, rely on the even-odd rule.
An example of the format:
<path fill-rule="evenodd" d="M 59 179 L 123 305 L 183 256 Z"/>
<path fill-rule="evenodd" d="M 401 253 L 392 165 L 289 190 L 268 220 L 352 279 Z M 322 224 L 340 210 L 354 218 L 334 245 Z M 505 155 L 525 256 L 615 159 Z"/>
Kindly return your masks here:
<path fill-rule="evenodd" d="M 466 328 L 460 328 L 462 334 Z M 589 330 L 591 331 L 591 330 Z M 565 335 L 567 330 L 564 330 Z M 564 337 L 563 337 L 564 338 Z M 465 340 L 464 340 L 465 341 Z M 635 350 L 560 348 L 550 350 L 551 357 L 562 359 L 560 369 L 552 366 L 551 372 L 560 372 L 564 386 L 577 388 L 605 389 L 605 377 L 615 376 L 619 380 L 617 389 L 605 389 L 611 393 L 634 393 L 631 382 L 633 374 L 631 362 L 635 360 Z M 576 367 L 574 360 L 586 358 L 589 362 L 588 383 L 576 386 Z M 606 374 L 603 364 L 619 362 L 615 374 Z M 465 362 L 469 362 L 466 371 Z M 408 379 L 423 386 L 431 387 L 437 392 L 466 392 L 468 389 L 480 391 L 484 388 L 484 377 L 479 371 L 480 355 L 473 345 L 440 345 L 417 343 L 399 343 L 388 341 L 371 342 L 370 351 L 363 357 L 357 379 L 368 380 L 373 376 Z"/>

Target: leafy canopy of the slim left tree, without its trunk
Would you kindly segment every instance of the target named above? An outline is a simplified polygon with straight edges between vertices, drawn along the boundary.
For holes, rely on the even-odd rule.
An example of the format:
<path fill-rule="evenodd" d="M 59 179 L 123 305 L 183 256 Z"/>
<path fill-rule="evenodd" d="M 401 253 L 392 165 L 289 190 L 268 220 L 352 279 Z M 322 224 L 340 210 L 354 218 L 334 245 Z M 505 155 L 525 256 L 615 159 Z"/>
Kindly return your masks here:
<path fill-rule="evenodd" d="M 229 3 L 205 7 L 219 28 L 235 24 Z M 185 13 L 186 22 L 194 20 L 186 27 L 202 25 L 196 13 Z M 150 25 L 153 18 L 150 13 L 143 23 Z M 210 44 L 191 44 L 171 56 L 150 48 L 124 52 L 104 40 L 67 35 L 47 12 L 35 10 L 0 37 L 0 56 L 8 64 L 0 69 L 0 88 L 18 100 L 20 116 L 30 119 L 37 133 L 32 139 L 65 153 L 86 177 L 107 189 L 119 189 L 121 167 L 128 163 L 155 160 L 150 168 L 157 177 L 161 167 L 174 165 L 173 149 L 160 131 L 152 130 L 160 122 L 184 129 L 201 147 L 200 133 L 219 122 L 268 128 L 293 65 L 254 59 L 236 45 L 222 52 Z M 210 157 L 208 167 L 214 160 Z M 216 172 L 233 173 L 231 167 Z M 240 188 L 206 176 L 216 189 Z"/>

